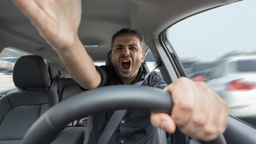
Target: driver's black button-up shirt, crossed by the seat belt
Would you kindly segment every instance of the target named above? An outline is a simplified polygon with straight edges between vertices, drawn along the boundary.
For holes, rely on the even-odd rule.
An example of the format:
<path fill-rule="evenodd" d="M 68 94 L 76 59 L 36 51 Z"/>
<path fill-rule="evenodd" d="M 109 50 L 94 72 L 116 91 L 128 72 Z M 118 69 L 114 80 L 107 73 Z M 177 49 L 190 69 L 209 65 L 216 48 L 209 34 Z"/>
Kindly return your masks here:
<path fill-rule="evenodd" d="M 99 87 L 124 84 L 123 80 L 116 74 L 114 67 L 96 66 L 96 69 L 101 73 L 101 83 Z M 145 75 L 145 72 L 140 69 L 139 76 L 130 84 L 133 85 L 138 80 L 144 80 Z M 151 72 L 142 85 L 162 89 L 167 86 L 155 71 Z M 107 111 L 94 114 L 88 144 L 96 144 L 98 142 L 113 113 L 114 111 Z M 150 111 L 128 109 L 108 144 L 156 144 L 157 141 L 154 130 L 155 127 L 150 123 Z"/>

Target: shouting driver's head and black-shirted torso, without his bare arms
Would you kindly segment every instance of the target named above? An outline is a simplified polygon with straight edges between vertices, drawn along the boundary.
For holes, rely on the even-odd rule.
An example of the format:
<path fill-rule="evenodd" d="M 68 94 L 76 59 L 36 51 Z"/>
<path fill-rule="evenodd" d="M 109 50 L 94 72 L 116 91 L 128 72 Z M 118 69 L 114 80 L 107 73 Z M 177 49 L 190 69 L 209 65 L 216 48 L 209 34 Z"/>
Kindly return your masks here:
<path fill-rule="evenodd" d="M 123 28 L 112 37 L 111 61 L 114 67 L 96 66 L 101 75 L 99 87 L 108 85 L 134 84 L 144 80 L 145 72 L 140 65 L 144 61 L 145 42 L 143 36 L 135 29 Z M 152 72 L 142 85 L 165 88 L 167 84 L 156 72 Z M 104 128 L 114 111 L 94 115 L 92 131 L 88 144 L 98 142 Z M 109 143 L 157 143 L 155 128 L 150 123 L 150 111 L 127 110 Z"/>

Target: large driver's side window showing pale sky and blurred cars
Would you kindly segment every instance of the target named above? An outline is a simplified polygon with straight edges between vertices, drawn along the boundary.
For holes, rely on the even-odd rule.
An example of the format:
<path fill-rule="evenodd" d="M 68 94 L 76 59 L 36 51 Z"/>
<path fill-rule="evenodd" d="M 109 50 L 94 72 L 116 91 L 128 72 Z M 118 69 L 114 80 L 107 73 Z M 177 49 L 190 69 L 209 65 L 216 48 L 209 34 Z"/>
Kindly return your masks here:
<path fill-rule="evenodd" d="M 167 31 L 188 77 L 204 81 L 227 102 L 230 115 L 252 126 L 256 126 L 255 5 L 255 0 L 246 0 L 214 8 Z M 199 68 L 203 64 L 213 68 Z"/>

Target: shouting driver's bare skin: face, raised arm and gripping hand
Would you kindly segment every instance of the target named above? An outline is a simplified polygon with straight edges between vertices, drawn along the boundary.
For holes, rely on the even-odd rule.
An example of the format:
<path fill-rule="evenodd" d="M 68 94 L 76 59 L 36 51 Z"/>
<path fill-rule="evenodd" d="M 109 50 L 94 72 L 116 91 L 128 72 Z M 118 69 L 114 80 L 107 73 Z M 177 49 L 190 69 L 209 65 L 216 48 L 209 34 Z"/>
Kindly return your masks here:
<path fill-rule="evenodd" d="M 95 68 L 78 38 L 81 0 L 14 0 L 31 20 L 40 35 L 57 52 L 66 70 L 85 89 L 102 85 L 103 73 Z M 124 57 L 123 57 L 124 55 Z M 133 35 L 116 37 L 112 47 L 112 63 L 124 84 L 130 84 L 141 72 L 144 61 L 141 41 Z M 130 64 L 127 64 L 129 63 Z M 83 64 L 87 63 L 86 66 Z M 175 125 L 193 138 L 209 141 L 223 133 L 227 126 L 227 104 L 204 83 L 179 78 L 164 90 L 172 93 L 172 115 L 151 113 L 152 125 L 169 133 Z"/>

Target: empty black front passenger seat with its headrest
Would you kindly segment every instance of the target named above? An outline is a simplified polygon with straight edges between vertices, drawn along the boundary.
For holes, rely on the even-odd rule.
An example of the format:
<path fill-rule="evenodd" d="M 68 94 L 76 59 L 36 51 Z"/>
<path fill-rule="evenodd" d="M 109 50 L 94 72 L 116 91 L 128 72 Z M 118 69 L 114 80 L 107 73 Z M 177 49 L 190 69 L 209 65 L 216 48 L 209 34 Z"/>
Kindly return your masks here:
<path fill-rule="evenodd" d="M 29 127 L 51 106 L 58 95 L 48 89 L 49 72 L 40 56 L 22 56 L 15 63 L 13 82 L 19 89 L 0 98 L 0 144 L 20 144 Z"/>

